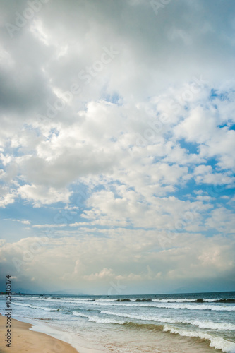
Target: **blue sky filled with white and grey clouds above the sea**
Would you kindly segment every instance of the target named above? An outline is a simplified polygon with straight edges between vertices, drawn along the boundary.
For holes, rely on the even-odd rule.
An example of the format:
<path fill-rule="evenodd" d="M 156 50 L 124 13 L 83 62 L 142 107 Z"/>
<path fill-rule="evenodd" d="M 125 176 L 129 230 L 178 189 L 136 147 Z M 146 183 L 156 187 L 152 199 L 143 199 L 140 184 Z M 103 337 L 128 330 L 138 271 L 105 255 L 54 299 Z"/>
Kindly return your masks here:
<path fill-rule="evenodd" d="M 235 290 L 234 1 L 0 7 L 0 290 Z"/>

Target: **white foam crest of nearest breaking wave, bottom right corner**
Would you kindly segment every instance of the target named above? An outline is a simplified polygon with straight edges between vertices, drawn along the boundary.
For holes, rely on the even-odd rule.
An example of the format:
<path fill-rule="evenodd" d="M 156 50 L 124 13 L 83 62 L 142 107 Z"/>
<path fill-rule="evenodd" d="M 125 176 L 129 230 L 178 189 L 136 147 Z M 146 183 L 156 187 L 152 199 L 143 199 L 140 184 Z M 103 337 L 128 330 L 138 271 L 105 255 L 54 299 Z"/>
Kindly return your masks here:
<path fill-rule="evenodd" d="M 212 335 L 209 335 L 207 333 L 202 333 L 200 331 L 189 331 L 189 330 L 181 330 L 179 328 L 174 328 L 169 325 L 165 325 L 164 329 L 165 332 L 170 332 L 170 333 L 177 333 L 178 335 L 184 336 L 184 337 L 198 337 L 203 340 L 209 340 L 210 341 L 210 347 L 215 347 L 216 349 L 221 349 L 222 352 L 227 352 L 227 353 L 235 353 L 235 343 L 231 341 L 224 340 L 222 337 L 215 337 Z"/>

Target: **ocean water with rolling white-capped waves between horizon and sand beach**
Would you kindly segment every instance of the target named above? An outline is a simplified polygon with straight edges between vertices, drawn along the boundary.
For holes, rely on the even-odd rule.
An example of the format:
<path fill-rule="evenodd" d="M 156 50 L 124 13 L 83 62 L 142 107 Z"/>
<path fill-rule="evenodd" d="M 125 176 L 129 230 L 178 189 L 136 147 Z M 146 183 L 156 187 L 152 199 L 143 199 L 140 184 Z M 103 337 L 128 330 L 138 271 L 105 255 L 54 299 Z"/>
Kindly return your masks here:
<path fill-rule="evenodd" d="M 49 324 L 102 352 L 235 353 L 235 292 L 16 295 L 11 309 L 13 318 Z"/>

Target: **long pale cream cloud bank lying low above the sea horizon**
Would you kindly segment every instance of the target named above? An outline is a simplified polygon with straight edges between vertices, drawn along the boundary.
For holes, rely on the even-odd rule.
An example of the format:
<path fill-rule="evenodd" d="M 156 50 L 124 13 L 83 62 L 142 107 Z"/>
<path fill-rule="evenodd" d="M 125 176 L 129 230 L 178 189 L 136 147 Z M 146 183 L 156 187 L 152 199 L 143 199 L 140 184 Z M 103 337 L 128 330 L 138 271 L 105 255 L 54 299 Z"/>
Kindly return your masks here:
<path fill-rule="evenodd" d="M 4 265 L 18 277 L 21 285 L 34 277 L 39 284 L 43 279 L 45 288 L 58 288 L 59 276 L 61 288 L 73 282 L 74 288 L 88 292 L 108 291 L 114 280 L 120 280 L 129 292 L 135 282 L 145 282 L 147 288 L 156 285 L 167 288 L 169 280 L 174 287 L 191 278 L 197 282 L 199 273 L 200 278 L 208 280 L 213 279 L 215 273 L 223 276 L 234 270 L 232 239 L 228 244 L 222 236 L 217 236 L 215 242 L 199 234 L 191 237 L 178 234 L 171 239 L 172 249 L 161 249 L 152 231 L 116 229 L 109 232 L 110 238 L 28 238 L 6 243 L 1 246 L 1 259 L 5 258 Z"/>

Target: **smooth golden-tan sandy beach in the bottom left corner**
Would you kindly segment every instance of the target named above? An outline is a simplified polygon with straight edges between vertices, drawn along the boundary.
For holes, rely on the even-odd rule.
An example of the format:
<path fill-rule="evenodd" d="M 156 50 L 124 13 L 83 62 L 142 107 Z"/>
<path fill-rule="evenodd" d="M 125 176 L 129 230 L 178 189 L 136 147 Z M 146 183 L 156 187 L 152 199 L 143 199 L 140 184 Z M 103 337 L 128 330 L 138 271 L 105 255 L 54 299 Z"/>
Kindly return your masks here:
<path fill-rule="evenodd" d="M 30 330 L 32 325 L 11 318 L 11 348 L 6 347 L 6 317 L 0 316 L 0 353 L 78 353 L 66 342 Z"/>

